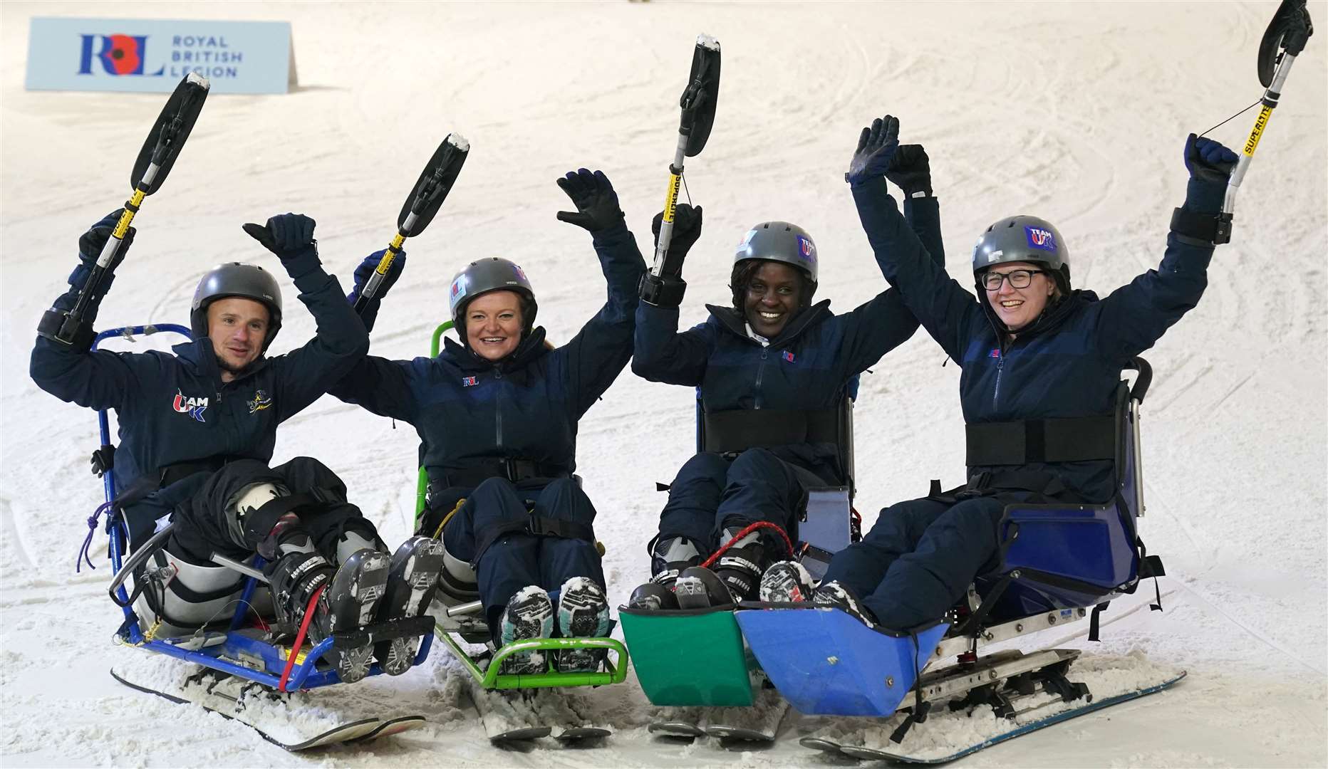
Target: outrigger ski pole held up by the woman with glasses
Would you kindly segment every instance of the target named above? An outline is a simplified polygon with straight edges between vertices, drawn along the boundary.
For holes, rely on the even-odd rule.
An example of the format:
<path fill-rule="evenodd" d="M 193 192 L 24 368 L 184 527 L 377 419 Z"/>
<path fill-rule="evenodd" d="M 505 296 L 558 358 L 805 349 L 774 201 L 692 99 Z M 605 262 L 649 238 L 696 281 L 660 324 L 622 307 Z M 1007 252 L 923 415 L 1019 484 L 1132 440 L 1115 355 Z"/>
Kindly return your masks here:
<path fill-rule="evenodd" d="M 1263 40 L 1259 43 L 1259 84 L 1264 88 L 1260 100 L 1262 108 L 1259 117 L 1254 121 L 1254 129 L 1250 130 L 1250 138 L 1246 139 L 1240 151 L 1240 158 L 1236 161 L 1236 167 L 1227 181 L 1227 197 L 1222 203 L 1222 220 L 1219 223 L 1219 227 L 1226 230 L 1224 232 L 1219 231 L 1219 235 L 1224 235 L 1226 239 L 1218 240 L 1219 243 L 1227 243 L 1231 239 L 1231 219 L 1235 214 L 1240 181 L 1244 179 L 1250 161 L 1254 159 L 1254 150 L 1259 146 L 1259 138 L 1263 135 L 1263 129 L 1267 128 L 1268 118 L 1272 117 L 1272 110 L 1276 109 L 1278 100 L 1282 98 L 1282 88 L 1287 82 L 1291 65 L 1296 62 L 1296 56 L 1300 56 L 1300 52 L 1305 49 L 1305 43 L 1313 33 L 1315 25 L 1309 21 L 1305 0 L 1282 0 L 1278 13 L 1274 15 L 1268 29 L 1263 33 Z"/>

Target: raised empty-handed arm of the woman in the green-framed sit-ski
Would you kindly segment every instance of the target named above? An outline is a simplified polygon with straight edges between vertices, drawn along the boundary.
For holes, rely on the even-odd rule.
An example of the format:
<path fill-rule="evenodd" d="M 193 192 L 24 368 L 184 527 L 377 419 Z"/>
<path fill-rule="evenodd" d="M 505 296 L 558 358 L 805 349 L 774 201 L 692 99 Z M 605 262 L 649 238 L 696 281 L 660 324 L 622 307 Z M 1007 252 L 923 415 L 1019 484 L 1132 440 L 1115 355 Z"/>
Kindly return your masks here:
<path fill-rule="evenodd" d="M 576 206 L 575 213 L 559 211 L 558 219 L 591 234 L 608 284 L 608 299 L 599 312 L 554 352 L 555 360 L 566 367 L 571 402 L 579 416 L 604 394 L 632 357 L 636 287 L 645 274 L 645 260 L 627 228 L 614 185 L 603 171 L 579 169 L 558 179 L 558 186 Z"/>

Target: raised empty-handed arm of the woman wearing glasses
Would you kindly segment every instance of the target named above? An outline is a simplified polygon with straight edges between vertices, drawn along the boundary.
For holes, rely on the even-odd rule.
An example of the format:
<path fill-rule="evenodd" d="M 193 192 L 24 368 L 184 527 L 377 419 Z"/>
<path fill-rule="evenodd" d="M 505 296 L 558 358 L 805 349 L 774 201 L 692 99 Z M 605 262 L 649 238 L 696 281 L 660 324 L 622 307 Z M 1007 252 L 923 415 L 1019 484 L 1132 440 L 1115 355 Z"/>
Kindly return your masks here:
<path fill-rule="evenodd" d="M 984 321 L 972 294 L 950 278 L 944 264 L 928 254 L 912 227 L 899 213 L 886 187 L 886 170 L 899 149 L 899 121 L 890 116 L 862 129 L 858 150 L 846 178 L 853 189 L 858 218 L 876 255 L 882 275 L 903 295 L 908 309 L 927 332 L 955 360 L 969 324 Z M 919 201 L 915 215 L 924 214 Z M 939 227 L 939 211 L 936 224 Z"/>

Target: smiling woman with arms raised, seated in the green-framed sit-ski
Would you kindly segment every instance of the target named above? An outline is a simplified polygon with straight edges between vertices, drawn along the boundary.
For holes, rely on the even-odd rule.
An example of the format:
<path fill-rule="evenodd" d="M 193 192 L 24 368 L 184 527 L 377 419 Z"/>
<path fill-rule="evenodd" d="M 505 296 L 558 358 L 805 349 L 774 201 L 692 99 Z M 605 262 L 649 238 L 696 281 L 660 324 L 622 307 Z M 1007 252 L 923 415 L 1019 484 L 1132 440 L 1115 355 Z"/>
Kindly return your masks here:
<path fill-rule="evenodd" d="M 576 428 L 632 356 L 645 262 L 603 173 L 580 169 L 558 183 L 578 209 L 558 218 L 591 232 L 608 283 L 608 300 L 580 333 L 548 345 L 535 327 L 538 304 L 526 272 L 506 259 L 479 259 L 453 278 L 448 295 L 459 344 L 448 339 L 434 359 L 367 356 L 331 389 L 420 433 L 429 494 L 418 533 L 441 530 L 444 590 L 457 598 L 478 590 L 499 644 L 548 636 L 550 594 L 558 596 L 562 636 L 608 632 L 595 507 L 572 475 Z M 380 255 L 356 270 L 352 303 Z M 404 264 L 404 258 L 393 262 L 367 308 L 368 324 Z M 598 665 L 590 649 L 562 651 L 554 661 L 560 671 Z M 505 664 L 514 673 L 543 669 L 530 653 Z"/>

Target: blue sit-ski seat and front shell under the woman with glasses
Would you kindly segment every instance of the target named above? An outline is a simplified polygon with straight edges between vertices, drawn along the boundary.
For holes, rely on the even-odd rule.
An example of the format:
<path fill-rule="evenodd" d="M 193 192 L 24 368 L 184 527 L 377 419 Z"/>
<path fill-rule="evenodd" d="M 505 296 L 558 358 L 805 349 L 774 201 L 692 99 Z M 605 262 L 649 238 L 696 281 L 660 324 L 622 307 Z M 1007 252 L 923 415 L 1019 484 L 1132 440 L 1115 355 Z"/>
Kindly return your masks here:
<path fill-rule="evenodd" d="M 1100 505 L 1008 505 L 1000 522 L 1001 564 L 979 578 L 981 600 L 967 616 L 892 631 L 806 604 L 737 612 L 752 652 L 794 708 L 888 716 L 928 665 L 956 655 L 969 655 L 971 664 L 980 645 L 1077 620 L 1085 608 L 1133 592 L 1141 578 L 1163 574 L 1135 534 L 1143 511 L 1138 406 L 1151 368 L 1138 357 L 1126 368 L 1138 376 L 1133 388 L 1123 381 L 1117 388 L 1117 494 Z M 1094 622 L 1089 638 L 1096 634 Z"/>

